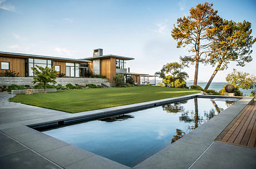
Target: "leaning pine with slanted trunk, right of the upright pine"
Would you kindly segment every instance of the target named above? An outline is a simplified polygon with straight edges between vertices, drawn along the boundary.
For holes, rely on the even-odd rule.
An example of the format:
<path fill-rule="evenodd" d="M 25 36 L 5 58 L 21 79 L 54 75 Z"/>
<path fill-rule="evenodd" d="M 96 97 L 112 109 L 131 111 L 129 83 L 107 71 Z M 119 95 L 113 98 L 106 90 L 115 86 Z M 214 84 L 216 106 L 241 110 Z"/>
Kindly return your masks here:
<path fill-rule="evenodd" d="M 251 23 L 246 21 L 235 23 L 224 20 L 220 24 L 216 24 L 214 29 L 208 29 L 208 37 L 213 40 L 213 43 L 210 44 L 210 58 L 206 62 L 213 66 L 217 64 L 217 66 L 206 84 L 205 90 L 209 88 L 216 73 L 219 70 L 227 69 L 230 62 L 237 62 L 237 65 L 244 66 L 245 62 L 252 61 L 250 54 L 253 50 L 250 48 L 256 38 L 253 38 L 251 33 Z"/>

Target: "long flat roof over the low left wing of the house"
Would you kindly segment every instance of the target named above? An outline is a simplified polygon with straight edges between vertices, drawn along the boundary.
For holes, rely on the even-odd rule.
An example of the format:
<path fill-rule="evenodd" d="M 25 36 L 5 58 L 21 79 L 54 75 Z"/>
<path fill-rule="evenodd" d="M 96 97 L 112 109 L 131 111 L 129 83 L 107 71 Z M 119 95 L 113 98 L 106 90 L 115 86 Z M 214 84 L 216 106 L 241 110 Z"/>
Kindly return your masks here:
<path fill-rule="evenodd" d="M 16 57 L 16 58 L 51 59 L 51 60 L 65 61 L 65 62 L 72 61 L 72 62 L 75 62 L 75 63 L 91 62 L 90 60 L 70 59 L 70 58 L 60 58 L 60 57 L 48 57 L 48 56 L 43 56 L 43 55 L 1 52 L 1 51 L 0 51 L 0 56 L 2 56 L 2 57 Z"/>

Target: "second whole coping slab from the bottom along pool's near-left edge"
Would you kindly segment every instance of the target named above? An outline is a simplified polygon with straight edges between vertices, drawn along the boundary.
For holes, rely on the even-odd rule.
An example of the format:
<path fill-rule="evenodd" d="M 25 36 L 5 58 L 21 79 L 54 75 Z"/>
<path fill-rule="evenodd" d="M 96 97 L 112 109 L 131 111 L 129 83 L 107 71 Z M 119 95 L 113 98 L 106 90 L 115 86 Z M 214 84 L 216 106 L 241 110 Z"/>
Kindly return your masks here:
<path fill-rule="evenodd" d="M 55 139 L 54 137 L 47 137 L 44 139 L 25 142 L 24 145 L 31 148 L 33 151 L 38 153 L 54 150 L 56 148 L 60 148 L 63 146 L 67 146 L 68 144 L 64 141 Z"/>

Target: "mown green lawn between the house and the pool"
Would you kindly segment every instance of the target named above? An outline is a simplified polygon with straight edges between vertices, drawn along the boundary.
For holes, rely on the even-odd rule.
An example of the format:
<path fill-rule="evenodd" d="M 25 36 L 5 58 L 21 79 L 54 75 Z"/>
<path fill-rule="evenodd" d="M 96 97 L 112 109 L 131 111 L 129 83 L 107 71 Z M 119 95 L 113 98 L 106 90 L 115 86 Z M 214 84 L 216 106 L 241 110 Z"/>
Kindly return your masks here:
<path fill-rule="evenodd" d="M 56 93 L 36 93 L 33 95 L 18 94 L 9 100 L 75 113 L 195 93 L 200 93 L 200 91 L 160 86 L 138 86 L 134 88 L 59 90 Z"/>

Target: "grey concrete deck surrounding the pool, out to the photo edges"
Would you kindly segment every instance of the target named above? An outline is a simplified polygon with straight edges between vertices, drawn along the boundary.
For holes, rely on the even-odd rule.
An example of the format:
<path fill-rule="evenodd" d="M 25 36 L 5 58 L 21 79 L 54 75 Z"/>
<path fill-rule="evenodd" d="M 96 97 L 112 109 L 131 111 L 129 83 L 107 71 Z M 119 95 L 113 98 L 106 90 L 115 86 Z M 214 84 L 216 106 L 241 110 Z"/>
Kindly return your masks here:
<path fill-rule="evenodd" d="M 8 98 L 11 97 L 11 94 L 0 93 L 1 168 L 130 168 L 28 126 L 60 125 L 180 101 L 195 95 L 77 114 L 10 103 Z M 255 168 L 256 149 L 214 142 L 250 101 L 252 98 L 243 98 L 134 168 Z"/>

